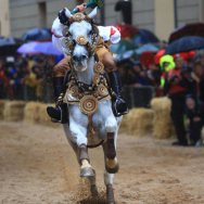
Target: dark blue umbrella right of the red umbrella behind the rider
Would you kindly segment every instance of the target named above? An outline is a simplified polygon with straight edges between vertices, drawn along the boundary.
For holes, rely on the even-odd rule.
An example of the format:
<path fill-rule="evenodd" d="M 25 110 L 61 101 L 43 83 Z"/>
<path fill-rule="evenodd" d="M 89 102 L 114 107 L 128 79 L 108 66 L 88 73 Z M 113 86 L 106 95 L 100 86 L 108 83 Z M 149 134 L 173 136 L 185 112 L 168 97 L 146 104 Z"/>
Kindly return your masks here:
<path fill-rule="evenodd" d="M 145 43 L 156 43 L 160 40 L 152 31 L 148 29 L 139 29 L 133 36 L 132 41 L 136 46 L 140 46 Z"/>

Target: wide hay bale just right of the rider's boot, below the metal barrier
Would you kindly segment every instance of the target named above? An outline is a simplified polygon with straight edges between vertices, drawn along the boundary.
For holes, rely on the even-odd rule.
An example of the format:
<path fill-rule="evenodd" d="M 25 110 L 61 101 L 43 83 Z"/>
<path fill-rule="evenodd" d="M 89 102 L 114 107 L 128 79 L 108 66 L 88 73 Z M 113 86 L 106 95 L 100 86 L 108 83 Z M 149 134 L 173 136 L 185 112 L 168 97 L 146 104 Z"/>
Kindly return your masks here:
<path fill-rule="evenodd" d="M 154 112 L 149 109 L 133 109 L 122 122 L 122 131 L 141 137 L 152 130 Z"/>

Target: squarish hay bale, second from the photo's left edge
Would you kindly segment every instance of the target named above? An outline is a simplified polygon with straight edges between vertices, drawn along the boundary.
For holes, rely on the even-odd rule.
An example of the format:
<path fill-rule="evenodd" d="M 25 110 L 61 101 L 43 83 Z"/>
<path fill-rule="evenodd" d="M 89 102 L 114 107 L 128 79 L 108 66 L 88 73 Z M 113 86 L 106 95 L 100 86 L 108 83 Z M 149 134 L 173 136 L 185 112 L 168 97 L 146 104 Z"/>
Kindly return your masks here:
<path fill-rule="evenodd" d="M 24 118 L 25 102 L 8 101 L 4 104 L 3 118 L 5 122 L 18 122 Z"/>

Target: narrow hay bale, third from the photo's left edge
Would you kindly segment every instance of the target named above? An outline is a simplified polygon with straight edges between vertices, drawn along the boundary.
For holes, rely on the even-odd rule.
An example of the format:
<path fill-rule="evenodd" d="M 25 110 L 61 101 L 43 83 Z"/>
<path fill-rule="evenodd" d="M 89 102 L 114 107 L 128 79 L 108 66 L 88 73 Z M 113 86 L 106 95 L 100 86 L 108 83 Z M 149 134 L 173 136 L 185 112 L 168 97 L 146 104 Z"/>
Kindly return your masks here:
<path fill-rule="evenodd" d="M 28 123 L 38 123 L 39 122 L 39 109 L 40 103 L 37 102 L 28 102 L 24 109 L 24 122 Z"/>

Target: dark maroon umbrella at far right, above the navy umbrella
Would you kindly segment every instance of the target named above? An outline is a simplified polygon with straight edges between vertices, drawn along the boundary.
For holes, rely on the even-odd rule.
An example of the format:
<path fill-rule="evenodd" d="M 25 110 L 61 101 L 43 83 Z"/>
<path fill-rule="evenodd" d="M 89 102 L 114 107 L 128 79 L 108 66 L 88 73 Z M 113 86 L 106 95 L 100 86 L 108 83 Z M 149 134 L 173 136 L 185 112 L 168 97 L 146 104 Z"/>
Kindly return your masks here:
<path fill-rule="evenodd" d="M 169 43 L 184 36 L 204 37 L 204 23 L 187 24 L 170 34 Z"/>

